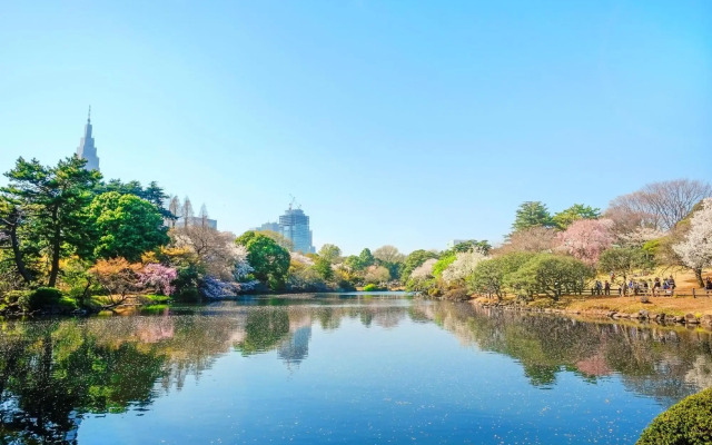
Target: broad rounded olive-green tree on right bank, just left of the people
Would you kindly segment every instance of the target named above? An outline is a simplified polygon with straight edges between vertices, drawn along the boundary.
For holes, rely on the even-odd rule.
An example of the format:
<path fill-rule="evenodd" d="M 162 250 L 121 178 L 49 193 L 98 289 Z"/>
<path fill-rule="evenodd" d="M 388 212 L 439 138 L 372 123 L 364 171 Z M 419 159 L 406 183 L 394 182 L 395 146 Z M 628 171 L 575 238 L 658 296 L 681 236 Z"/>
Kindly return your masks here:
<path fill-rule="evenodd" d="M 593 276 L 593 269 L 575 258 L 538 254 L 507 275 L 506 281 L 518 296 L 543 294 L 557 300 L 562 295 L 581 293 Z"/>

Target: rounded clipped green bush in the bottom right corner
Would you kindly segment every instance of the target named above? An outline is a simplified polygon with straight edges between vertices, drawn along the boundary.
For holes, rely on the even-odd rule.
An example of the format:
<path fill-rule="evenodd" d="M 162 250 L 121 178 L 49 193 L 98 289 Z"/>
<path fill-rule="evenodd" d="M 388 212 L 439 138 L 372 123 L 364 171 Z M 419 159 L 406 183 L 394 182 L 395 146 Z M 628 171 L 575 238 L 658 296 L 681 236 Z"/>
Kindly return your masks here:
<path fill-rule="evenodd" d="M 712 444 L 712 388 L 682 399 L 655 417 L 636 442 L 649 444 Z"/>

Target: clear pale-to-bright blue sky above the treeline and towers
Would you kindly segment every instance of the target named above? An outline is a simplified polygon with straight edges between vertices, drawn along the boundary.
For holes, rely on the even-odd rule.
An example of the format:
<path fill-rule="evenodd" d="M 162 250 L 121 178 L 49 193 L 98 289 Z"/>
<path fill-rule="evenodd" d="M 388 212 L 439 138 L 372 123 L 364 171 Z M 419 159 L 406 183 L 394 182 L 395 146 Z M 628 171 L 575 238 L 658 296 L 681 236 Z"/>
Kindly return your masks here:
<path fill-rule="evenodd" d="M 712 178 L 712 1 L 6 1 L 0 169 L 71 155 L 221 229 L 498 241 L 516 207 Z M 0 179 L 4 184 L 4 178 Z"/>

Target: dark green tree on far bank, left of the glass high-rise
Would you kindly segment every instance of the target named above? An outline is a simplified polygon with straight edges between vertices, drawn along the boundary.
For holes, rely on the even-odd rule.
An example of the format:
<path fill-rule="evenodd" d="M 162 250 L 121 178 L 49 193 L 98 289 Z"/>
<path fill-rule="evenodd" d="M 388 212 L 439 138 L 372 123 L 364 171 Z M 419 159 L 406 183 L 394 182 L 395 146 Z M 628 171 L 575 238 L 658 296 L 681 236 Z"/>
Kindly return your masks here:
<path fill-rule="evenodd" d="M 255 269 L 256 279 L 271 290 L 281 290 L 289 273 L 289 253 L 274 239 L 254 230 L 246 231 L 235 240 L 247 248 L 247 261 Z"/>

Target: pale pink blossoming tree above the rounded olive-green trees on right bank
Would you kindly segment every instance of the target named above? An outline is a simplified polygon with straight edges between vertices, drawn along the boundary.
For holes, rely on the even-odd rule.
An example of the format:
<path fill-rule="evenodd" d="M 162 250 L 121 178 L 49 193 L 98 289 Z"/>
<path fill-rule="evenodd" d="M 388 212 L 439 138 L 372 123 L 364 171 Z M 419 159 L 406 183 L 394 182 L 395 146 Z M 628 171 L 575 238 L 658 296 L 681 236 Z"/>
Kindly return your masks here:
<path fill-rule="evenodd" d="M 593 266 L 615 239 L 611 219 L 578 219 L 558 234 L 562 247 L 574 258 Z"/>

